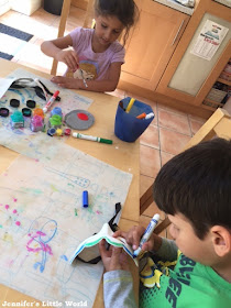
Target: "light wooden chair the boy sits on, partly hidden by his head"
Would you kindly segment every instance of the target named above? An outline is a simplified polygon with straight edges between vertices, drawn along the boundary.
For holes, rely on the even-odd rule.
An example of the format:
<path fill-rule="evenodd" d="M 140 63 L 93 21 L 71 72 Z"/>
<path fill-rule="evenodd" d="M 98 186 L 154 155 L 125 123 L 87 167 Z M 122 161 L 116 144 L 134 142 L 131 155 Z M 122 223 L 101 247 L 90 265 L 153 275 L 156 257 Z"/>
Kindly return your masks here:
<path fill-rule="evenodd" d="M 187 150 L 201 141 L 207 141 L 213 136 L 231 139 L 231 120 L 228 111 L 217 109 L 200 130 L 190 139 L 184 150 Z M 153 187 L 151 186 L 140 198 L 140 215 L 142 215 L 153 202 Z M 155 233 L 160 234 L 170 224 L 168 218 L 165 218 L 156 228 Z"/>

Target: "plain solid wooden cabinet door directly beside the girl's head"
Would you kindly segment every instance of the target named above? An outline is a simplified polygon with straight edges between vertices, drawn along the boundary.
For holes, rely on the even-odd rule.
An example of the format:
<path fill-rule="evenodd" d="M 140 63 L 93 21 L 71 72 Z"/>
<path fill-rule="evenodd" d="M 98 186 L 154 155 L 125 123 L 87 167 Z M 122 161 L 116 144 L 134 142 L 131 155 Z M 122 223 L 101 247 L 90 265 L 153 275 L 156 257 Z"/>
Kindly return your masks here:
<path fill-rule="evenodd" d="M 121 80 L 154 90 L 189 16 L 152 0 L 136 3 L 140 18 L 125 46 Z"/>

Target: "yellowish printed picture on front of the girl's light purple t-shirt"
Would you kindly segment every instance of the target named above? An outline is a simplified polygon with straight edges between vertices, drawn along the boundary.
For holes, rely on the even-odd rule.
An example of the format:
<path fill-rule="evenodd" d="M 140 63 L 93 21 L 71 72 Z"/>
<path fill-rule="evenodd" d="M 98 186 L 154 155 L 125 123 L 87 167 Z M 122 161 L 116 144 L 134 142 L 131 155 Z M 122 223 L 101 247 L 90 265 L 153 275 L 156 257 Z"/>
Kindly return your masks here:
<path fill-rule="evenodd" d="M 79 67 L 73 77 L 77 79 L 95 80 L 99 72 L 98 63 L 94 61 L 79 61 Z"/>

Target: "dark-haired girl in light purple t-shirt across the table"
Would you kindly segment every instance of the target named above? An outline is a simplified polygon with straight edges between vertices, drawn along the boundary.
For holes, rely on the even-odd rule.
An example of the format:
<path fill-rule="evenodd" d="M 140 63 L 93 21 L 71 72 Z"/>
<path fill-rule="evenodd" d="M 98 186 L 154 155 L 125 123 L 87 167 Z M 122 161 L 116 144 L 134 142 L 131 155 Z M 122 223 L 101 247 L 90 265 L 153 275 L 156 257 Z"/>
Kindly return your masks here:
<path fill-rule="evenodd" d="M 136 12 L 133 0 L 95 0 L 95 29 L 77 28 L 64 37 L 43 42 L 42 52 L 68 67 L 65 77 L 55 76 L 52 81 L 72 89 L 113 91 L 124 63 L 123 45 Z M 123 30 L 121 45 L 117 38 Z M 74 51 L 65 50 L 69 46 Z"/>

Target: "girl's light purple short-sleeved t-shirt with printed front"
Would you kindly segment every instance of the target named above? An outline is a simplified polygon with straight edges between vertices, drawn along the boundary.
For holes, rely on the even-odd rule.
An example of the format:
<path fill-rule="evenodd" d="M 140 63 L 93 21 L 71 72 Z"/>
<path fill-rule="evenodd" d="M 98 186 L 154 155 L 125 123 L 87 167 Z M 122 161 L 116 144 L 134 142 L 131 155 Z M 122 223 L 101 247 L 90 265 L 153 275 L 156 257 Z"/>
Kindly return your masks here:
<path fill-rule="evenodd" d="M 91 47 L 94 31 L 94 29 L 76 28 L 69 35 L 73 47 L 78 54 L 79 66 L 89 73 L 89 79 L 107 79 L 111 63 L 124 63 L 125 51 L 116 41 L 103 53 L 95 53 Z"/>

